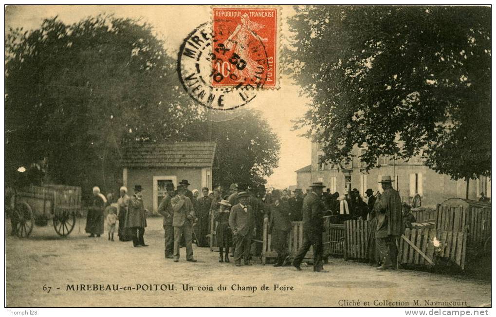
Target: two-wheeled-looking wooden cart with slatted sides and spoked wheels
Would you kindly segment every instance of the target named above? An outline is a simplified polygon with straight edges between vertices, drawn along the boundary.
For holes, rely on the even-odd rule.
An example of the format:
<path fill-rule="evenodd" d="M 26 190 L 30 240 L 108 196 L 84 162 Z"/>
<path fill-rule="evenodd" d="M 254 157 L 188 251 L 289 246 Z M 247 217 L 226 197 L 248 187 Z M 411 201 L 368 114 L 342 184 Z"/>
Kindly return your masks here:
<path fill-rule="evenodd" d="M 30 186 L 16 190 L 11 203 L 12 230 L 20 238 L 31 234 L 34 224 L 48 225 L 62 237 L 71 233 L 81 209 L 81 188 L 63 185 Z"/>

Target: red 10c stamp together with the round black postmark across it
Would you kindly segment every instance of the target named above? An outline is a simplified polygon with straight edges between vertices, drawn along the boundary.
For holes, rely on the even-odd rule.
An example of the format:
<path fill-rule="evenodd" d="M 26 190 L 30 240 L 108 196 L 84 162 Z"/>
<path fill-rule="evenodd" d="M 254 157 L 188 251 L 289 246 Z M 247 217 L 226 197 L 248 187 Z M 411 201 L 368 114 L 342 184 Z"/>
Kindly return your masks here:
<path fill-rule="evenodd" d="M 188 34 L 178 74 L 188 95 L 214 110 L 248 104 L 258 89 L 277 88 L 276 8 L 212 9 L 212 24 Z"/>

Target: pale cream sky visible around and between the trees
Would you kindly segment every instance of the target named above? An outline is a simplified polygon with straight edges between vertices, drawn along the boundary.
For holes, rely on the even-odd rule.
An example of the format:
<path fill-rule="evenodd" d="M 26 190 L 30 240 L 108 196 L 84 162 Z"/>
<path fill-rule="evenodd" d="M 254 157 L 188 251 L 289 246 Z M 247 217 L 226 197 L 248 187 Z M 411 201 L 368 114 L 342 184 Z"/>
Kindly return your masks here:
<path fill-rule="evenodd" d="M 281 42 L 285 43 L 290 34 L 285 23 L 294 14 L 291 6 L 280 6 Z M 211 19 L 211 7 L 207 5 L 24 5 L 9 6 L 5 10 L 5 30 L 12 27 L 34 29 L 43 19 L 58 16 L 64 23 L 74 23 L 87 16 L 114 14 L 116 17 L 140 18 L 150 23 L 157 36 L 164 40 L 167 52 L 177 56 L 184 38 L 198 25 Z M 280 50 L 278 50 L 280 53 Z M 281 141 L 279 167 L 267 179 L 267 185 L 286 188 L 296 185 L 295 171 L 311 162 L 310 140 L 299 137 L 302 131 L 292 131 L 292 120 L 303 116 L 305 97 L 298 94 L 300 87 L 291 78 L 280 74 L 280 88 L 267 89 L 257 93 L 246 109 L 258 109 L 268 121 Z"/>

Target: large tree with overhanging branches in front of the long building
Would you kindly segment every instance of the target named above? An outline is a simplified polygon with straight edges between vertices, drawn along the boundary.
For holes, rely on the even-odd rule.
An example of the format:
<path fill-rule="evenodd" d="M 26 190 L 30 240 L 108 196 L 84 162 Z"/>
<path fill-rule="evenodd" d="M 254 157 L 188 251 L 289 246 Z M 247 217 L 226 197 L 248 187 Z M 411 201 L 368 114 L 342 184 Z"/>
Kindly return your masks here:
<path fill-rule="evenodd" d="M 285 54 L 312 102 L 310 126 L 336 163 L 366 147 L 453 179 L 491 176 L 491 8 L 306 6 Z"/>

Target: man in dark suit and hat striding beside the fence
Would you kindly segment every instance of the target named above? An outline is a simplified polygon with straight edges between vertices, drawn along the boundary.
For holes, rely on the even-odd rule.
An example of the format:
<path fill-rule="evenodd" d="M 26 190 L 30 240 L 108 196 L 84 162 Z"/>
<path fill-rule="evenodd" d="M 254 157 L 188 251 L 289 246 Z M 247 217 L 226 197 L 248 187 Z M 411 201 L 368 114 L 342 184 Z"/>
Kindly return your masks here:
<path fill-rule="evenodd" d="M 313 247 L 313 271 L 325 272 L 322 265 L 322 232 L 324 231 L 324 205 L 321 199 L 322 189 L 325 187 L 322 182 L 314 182 L 311 187 L 311 192 L 303 199 L 303 245 L 298 250 L 293 266 L 301 270 L 300 264 L 309 251 Z"/>

